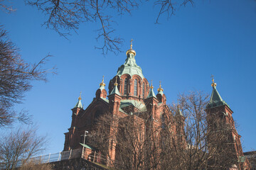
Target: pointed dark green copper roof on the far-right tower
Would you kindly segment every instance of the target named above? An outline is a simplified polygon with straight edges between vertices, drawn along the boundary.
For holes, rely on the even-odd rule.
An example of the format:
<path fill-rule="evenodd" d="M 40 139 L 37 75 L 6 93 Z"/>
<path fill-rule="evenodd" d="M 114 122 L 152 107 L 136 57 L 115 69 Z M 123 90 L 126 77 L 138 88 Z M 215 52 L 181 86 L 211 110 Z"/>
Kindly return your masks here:
<path fill-rule="evenodd" d="M 213 108 L 216 106 L 223 106 L 223 105 L 228 106 L 228 104 L 225 103 L 225 101 L 223 101 L 223 99 L 220 97 L 220 94 L 218 93 L 216 86 L 213 86 L 213 92 L 210 96 L 210 102 L 208 103 L 206 108 Z"/>

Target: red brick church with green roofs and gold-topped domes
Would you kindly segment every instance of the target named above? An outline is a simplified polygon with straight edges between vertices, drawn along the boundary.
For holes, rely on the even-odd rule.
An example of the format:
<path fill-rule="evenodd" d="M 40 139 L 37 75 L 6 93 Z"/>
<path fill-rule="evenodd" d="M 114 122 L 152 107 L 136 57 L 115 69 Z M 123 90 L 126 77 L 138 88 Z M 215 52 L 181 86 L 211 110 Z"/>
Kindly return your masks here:
<path fill-rule="evenodd" d="M 135 56 L 136 52 L 132 50 L 132 44 L 129 50 L 126 52 L 127 59 L 117 69 L 117 74 L 114 75 L 113 79 L 110 80 L 107 89 L 105 89 L 104 79 L 100 83 L 100 88 L 95 93 L 92 103 L 87 108 L 82 107 L 81 97 L 78 98 L 78 103 L 72 109 L 72 123 L 68 132 L 65 133 L 65 144 L 64 151 L 70 149 L 80 149 L 87 147 L 88 150 L 91 147 L 81 143 L 85 143 L 85 132 L 92 130 L 92 126 L 95 125 L 95 121 L 100 115 L 106 113 L 112 113 L 121 118 L 125 118 L 127 115 L 131 115 L 137 112 L 149 111 L 151 119 L 154 120 L 154 125 L 161 126 L 161 114 L 166 111 L 166 95 L 164 89 L 157 89 L 158 93 L 154 93 L 154 87 L 152 83 L 142 74 L 142 68 L 136 63 Z M 104 78 L 104 77 L 103 77 Z M 216 84 L 213 82 L 213 92 L 210 97 L 210 103 L 206 108 L 208 115 L 214 112 L 216 108 L 220 109 L 225 115 L 226 123 L 233 125 L 233 117 L 230 107 L 220 97 L 216 89 Z M 169 111 L 167 109 L 167 111 Z M 178 116 L 183 120 L 183 115 L 178 112 Z M 139 115 L 137 120 L 139 121 Z M 179 125 L 182 125 L 179 124 Z M 240 159 L 240 168 L 247 167 L 247 160 L 243 157 L 242 146 L 240 143 L 240 135 L 235 130 L 232 132 L 234 142 L 233 149 L 237 152 L 238 158 Z M 178 129 L 178 128 L 177 128 Z M 182 127 L 180 127 L 182 129 Z M 115 145 L 112 144 L 110 147 L 110 159 L 114 160 L 116 157 Z"/>

